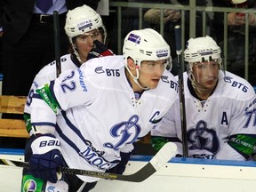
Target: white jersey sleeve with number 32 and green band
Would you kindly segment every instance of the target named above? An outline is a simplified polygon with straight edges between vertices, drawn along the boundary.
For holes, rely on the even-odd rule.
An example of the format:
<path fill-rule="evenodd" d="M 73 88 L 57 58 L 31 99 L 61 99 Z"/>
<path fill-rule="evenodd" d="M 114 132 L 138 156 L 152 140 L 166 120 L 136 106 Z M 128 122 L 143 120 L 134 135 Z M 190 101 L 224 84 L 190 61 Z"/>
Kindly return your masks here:
<path fill-rule="evenodd" d="M 31 103 L 31 123 L 35 126 L 56 124 L 56 116 L 61 110 L 68 110 L 81 104 L 90 105 L 97 99 L 99 89 L 94 89 L 90 77 L 77 68 L 60 74 L 54 81 L 39 87 Z"/>

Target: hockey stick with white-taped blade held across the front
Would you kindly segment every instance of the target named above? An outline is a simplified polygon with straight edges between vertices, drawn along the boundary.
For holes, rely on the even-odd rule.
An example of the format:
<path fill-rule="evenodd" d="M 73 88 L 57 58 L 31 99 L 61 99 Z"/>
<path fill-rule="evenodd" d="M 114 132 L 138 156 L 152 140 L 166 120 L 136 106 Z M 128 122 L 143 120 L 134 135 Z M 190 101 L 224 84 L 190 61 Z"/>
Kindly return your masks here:
<path fill-rule="evenodd" d="M 84 175 L 89 177 L 101 178 L 101 179 L 108 179 L 108 180 L 125 180 L 125 181 L 132 181 L 132 182 L 141 182 L 146 180 L 150 177 L 153 173 L 159 170 L 164 164 L 166 164 L 172 156 L 176 154 L 177 146 L 172 143 L 168 142 L 161 148 L 157 153 L 156 156 L 142 167 L 138 172 L 135 172 L 131 175 L 121 175 L 115 173 L 108 173 L 108 172 L 94 172 L 94 171 L 87 171 L 87 170 L 80 170 L 80 169 L 72 169 L 69 167 L 60 167 L 59 172 L 66 173 L 66 174 L 78 174 Z M 19 161 L 12 161 L 7 159 L 0 159 L 0 164 L 9 165 L 9 166 L 18 166 L 25 169 L 29 169 L 28 162 L 19 162 Z"/>

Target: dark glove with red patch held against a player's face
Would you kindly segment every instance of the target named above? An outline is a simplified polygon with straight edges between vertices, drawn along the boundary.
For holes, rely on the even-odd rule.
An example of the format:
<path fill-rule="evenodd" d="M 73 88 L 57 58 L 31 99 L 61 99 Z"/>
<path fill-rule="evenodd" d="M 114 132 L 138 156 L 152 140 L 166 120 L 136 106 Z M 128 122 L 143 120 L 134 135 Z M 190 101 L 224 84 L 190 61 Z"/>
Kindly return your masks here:
<path fill-rule="evenodd" d="M 89 52 L 87 60 L 114 55 L 114 53 L 109 50 L 105 44 L 100 43 L 100 41 L 95 40 L 93 43 L 95 45 L 95 48 L 93 48 L 91 52 Z"/>

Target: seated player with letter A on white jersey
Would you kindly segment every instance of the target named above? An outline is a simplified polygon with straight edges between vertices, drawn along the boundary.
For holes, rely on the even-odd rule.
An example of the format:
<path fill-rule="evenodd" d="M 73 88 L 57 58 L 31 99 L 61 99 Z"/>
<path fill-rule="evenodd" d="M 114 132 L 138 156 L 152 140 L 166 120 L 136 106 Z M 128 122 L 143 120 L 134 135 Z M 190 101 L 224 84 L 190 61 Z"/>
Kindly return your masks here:
<path fill-rule="evenodd" d="M 188 156 L 247 160 L 256 140 L 256 100 L 252 85 L 221 70 L 220 47 L 210 36 L 191 38 L 184 52 Z M 169 140 L 182 155 L 180 100 L 151 132 L 153 147 Z"/>

